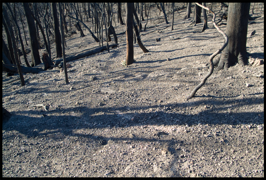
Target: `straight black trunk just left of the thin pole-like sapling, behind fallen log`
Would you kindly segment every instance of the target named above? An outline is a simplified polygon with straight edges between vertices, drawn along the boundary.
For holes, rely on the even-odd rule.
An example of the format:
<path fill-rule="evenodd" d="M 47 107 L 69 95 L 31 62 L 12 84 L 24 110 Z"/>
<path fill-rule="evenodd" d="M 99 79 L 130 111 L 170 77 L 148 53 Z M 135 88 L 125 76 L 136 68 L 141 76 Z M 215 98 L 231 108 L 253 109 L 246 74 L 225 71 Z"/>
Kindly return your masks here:
<path fill-rule="evenodd" d="M 52 6 L 52 14 L 53 14 L 53 28 L 54 28 L 54 38 L 55 38 L 54 42 L 56 46 L 56 58 L 61 58 L 62 57 L 62 45 L 61 45 L 56 3 L 54 2 L 51 3 L 51 6 Z"/>

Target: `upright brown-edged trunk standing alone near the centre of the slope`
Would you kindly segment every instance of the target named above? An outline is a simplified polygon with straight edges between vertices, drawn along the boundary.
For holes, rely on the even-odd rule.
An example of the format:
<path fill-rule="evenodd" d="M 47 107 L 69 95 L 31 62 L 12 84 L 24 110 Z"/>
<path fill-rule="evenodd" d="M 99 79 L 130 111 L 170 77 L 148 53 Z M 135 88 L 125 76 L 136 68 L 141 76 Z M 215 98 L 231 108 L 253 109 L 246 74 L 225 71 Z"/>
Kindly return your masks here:
<path fill-rule="evenodd" d="M 136 11 L 133 9 L 134 3 L 126 3 L 126 65 L 134 62 L 133 12 L 136 13 Z"/>

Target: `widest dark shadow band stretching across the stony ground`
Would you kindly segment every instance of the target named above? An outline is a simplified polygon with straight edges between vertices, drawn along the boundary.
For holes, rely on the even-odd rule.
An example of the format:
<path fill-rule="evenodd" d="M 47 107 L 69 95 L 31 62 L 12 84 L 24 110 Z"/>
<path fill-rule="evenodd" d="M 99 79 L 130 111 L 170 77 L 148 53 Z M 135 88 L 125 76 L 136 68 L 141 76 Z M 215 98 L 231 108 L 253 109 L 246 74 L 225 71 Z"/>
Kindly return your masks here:
<path fill-rule="evenodd" d="M 258 93 L 262 94 L 262 93 Z M 196 97 L 197 98 L 197 97 Z M 54 134 L 59 131 L 64 135 L 71 135 L 77 129 L 95 129 L 106 127 L 130 127 L 140 125 L 184 125 L 189 126 L 201 124 L 217 125 L 229 124 L 263 124 L 264 112 L 234 112 L 234 108 L 244 105 L 256 105 L 264 102 L 264 98 L 256 99 L 244 98 L 237 104 L 231 106 L 231 110 L 225 106 L 220 98 L 210 100 L 199 100 L 196 102 L 172 103 L 168 105 L 151 105 L 132 107 L 79 107 L 70 109 L 59 109 L 56 112 L 62 115 L 54 116 L 53 112 L 45 111 L 20 111 L 20 114 L 13 115 L 10 120 L 3 125 L 3 130 L 16 130 L 29 136 L 41 134 Z M 232 98 L 232 97 L 231 97 Z M 211 104 L 212 108 L 204 108 L 202 103 Z M 227 104 L 235 104 L 235 99 L 226 101 Z M 152 103 L 154 104 L 154 103 Z M 192 109 L 200 108 L 197 114 L 189 113 Z M 225 112 L 226 111 L 226 112 Z M 80 112 L 81 116 L 69 115 Z M 28 114 L 45 117 L 29 117 Z M 132 121 L 131 118 L 134 117 Z M 48 132 L 44 132 L 44 131 Z M 103 137 L 104 138 L 104 137 Z"/>

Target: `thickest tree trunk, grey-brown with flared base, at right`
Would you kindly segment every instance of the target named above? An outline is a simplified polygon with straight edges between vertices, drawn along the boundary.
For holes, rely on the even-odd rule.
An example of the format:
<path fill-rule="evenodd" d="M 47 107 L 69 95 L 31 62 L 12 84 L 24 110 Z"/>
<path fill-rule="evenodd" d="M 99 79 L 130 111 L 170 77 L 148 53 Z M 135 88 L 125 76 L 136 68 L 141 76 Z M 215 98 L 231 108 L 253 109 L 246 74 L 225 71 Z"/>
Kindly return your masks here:
<path fill-rule="evenodd" d="M 245 65 L 246 56 L 246 36 L 248 28 L 250 3 L 229 3 L 226 35 L 228 45 L 222 53 L 214 60 L 213 64 L 221 69 L 227 70 L 235 63 Z"/>

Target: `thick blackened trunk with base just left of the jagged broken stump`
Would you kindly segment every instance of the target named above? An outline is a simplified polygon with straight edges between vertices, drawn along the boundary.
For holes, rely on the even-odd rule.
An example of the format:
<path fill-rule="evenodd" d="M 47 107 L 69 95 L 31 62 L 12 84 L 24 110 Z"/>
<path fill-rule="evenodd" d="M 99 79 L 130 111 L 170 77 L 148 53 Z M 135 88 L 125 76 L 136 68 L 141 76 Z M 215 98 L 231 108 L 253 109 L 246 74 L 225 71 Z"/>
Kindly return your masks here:
<path fill-rule="evenodd" d="M 38 50 L 38 41 L 37 41 L 35 23 L 33 17 L 31 16 L 29 3 L 22 3 L 22 6 L 24 9 L 25 17 L 27 19 L 28 30 L 30 35 L 31 67 L 33 67 L 41 63 L 39 50 Z"/>

